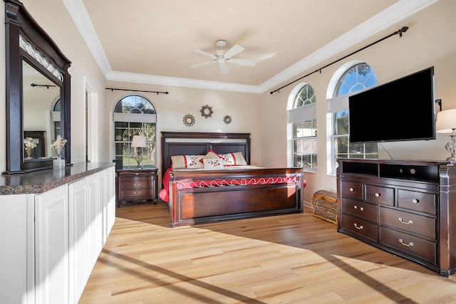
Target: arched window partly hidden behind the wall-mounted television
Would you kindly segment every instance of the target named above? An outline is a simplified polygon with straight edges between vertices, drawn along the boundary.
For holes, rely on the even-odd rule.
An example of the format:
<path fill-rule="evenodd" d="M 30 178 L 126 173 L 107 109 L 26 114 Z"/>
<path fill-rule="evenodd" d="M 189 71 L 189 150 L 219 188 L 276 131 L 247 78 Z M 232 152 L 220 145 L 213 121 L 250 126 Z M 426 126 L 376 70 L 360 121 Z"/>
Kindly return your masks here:
<path fill-rule="evenodd" d="M 331 96 L 333 100 L 329 100 L 330 105 L 328 108 L 333 112 L 333 159 L 331 171 L 334 173 L 337 158 L 378 158 L 378 144 L 351 144 L 349 135 L 348 96 L 358 90 L 377 84 L 375 73 L 371 66 L 363 62 L 344 65 L 336 72 L 333 78 L 336 78 L 336 81 L 334 79 L 331 80 L 331 83 L 335 83 L 333 85 L 335 89 L 333 90 L 333 96 Z M 368 130 L 366 131 L 368 132 Z"/>

